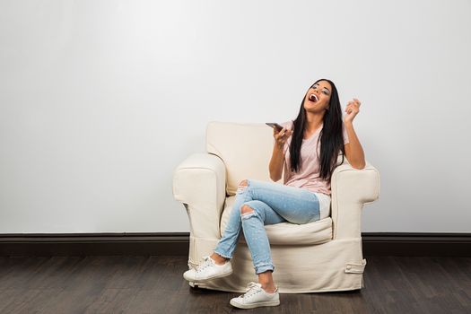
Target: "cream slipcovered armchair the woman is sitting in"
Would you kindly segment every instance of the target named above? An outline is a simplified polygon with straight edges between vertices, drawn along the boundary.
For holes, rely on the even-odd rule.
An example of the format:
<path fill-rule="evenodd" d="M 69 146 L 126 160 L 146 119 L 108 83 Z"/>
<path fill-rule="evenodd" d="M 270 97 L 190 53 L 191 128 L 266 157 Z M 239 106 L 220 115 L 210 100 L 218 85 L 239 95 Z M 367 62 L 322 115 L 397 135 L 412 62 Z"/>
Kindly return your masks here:
<path fill-rule="evenodd" d="M 274 141 L 272 129 L 264 124 L 210 122 L 207 153 L 191 154 L 174 171 L 173 196 L 185 205 L 190 222 L 189 267 L 211 255 L 221 239 L 240 181 L 271 181 L 268 163 Z M 363 287 L 362 208 L 379 197 L 379 171 L 369 162 L 356 170 L 345 159 L 332 174 L 331 192 L 330 217 L 301 225 L 265 226 L 273 276 L 282 293 Z M 198 285 L 244 292 L 247 283 L 257 282 L 243 233 L 231 262 L 232 275 Z"/>

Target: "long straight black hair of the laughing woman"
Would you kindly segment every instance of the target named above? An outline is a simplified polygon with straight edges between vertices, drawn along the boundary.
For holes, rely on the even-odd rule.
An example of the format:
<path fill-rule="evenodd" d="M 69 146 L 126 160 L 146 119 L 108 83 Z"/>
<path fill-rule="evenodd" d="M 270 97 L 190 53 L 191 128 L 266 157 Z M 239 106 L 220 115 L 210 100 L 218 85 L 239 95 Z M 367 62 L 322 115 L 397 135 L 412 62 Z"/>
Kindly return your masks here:
<path fill-rule="evenodd" d="M 340 108 L 340 100 L 338 99 L 338 92 L 336 85 L 327 79 L 319 79 L 319 81 L 326 81 L 332 86 L 330 94 L 328 110 L 324 114 L 323 127 L 320 131 L 320 174 L 321 179 L 326 179 L 330 182 L 332 173 L 339 165 L 336 164 L 338 154 L 342 152 L 342 163 L 344 163 L 345 147 L 344 136 L 342 130 L 342 109 Z M 314 83 L 314 84 L 315 84 Z M 312 85 L 314 85 L 312 84 Z M 312 85 L 310 87 L 312 87 Z M 309 92 L 309 89 L 308 89 Z M 306 95 L 308 94 L 306 92 Z M 304 109 L 304 100 L 306 95 L 302 98 L 301 108 L 298 117 L 293 121 L 292 141 L 290 144 L 290 163 L 291 170 L 297 172 L 300 170 L 301 165 L 301 144 L 304 137 L 304 130 L 308 126 L 306 118 L 306 109 Z M 317 153 L 317 152 L 313 152 Z"/>

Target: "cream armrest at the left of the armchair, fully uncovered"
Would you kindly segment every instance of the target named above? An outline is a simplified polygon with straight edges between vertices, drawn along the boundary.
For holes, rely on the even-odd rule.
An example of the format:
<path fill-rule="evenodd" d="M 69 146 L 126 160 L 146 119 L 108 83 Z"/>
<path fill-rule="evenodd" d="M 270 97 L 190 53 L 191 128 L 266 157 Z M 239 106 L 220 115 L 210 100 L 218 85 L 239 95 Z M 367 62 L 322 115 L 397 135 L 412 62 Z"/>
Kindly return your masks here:
<path fill-rule="evenodd" d="M 221 238 L 225 191 L 226 168 L 214 154 L 191 154 L 174 170 L 173 197 L 187 209 L 192 236 Z"/>

